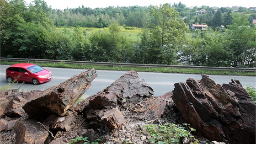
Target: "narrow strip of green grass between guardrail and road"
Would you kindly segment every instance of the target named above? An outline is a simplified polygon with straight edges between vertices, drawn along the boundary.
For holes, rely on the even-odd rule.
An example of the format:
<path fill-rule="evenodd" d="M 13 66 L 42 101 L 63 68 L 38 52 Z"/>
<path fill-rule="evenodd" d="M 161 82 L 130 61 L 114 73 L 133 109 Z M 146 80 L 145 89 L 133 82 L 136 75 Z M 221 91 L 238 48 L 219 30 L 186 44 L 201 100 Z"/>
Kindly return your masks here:
<path fill-rule="evenodd" d="M 11 65 L 11 64 L 16 64 L 16 63 L 21 63 L 21 62 L 5 61 L 5 60 L 0 61 L 0 64 Z M 25 63 L 29 63 L 29 62 L 27 61 Z M 31 62 L 31 63 L 35 63 L 35 62 Z M 149 67 L 106 66 L 106 65 L 91 65 L 91 64 L 65 64 L 65 63 L 41 63 L 41 62 L 36 62 L 36 64 L 38 64 L 42 67 L 71 68 L 71 69 L 98 69 L 98 70 L 121 70 L 121 71 L 136 70 L 138 72 L 256 76 L 255 72 L 227 71 L 227 70 L 149 68 Z"/>

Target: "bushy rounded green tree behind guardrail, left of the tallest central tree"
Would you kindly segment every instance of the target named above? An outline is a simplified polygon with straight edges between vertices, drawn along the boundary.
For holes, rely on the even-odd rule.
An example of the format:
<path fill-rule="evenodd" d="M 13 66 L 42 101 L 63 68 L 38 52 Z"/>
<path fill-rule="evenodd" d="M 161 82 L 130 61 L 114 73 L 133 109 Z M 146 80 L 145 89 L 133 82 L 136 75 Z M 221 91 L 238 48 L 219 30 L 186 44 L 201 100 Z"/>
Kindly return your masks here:
<path fill-rule="evenodd" d="M 109 26 L 108 31 L 97 31 L 90 37 L 91 59 L 101 62 L 127 62 L 131 44 L 120 33 L 118 23 Z"/>

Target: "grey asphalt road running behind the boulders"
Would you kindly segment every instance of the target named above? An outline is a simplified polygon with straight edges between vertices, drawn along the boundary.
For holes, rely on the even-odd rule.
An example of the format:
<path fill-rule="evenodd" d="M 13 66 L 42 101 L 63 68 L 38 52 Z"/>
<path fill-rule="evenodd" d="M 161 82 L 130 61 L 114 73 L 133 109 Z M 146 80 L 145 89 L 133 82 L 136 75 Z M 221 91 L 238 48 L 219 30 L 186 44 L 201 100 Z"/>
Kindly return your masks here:
<path fill-rule="evenodd" d="M 9 65 L 0 64 L 0 86 L 8 85 L 5 79 L 5 69 Z M 48 68 L 53 73 L 53 79 L 47 83 L 40 85 L 33 85 L 31 83 L 18 83 L 15 84 L 15 88 L 20 88 L 22 91 L 31 90 L 46 90 L 49 87 L 58 85 L 59 83 L 69 79 L 70 77 L 80 74 L 88 69 L 60 69 L 60 68 Z M 111 71 L 111 70 L 96 70 L 98 76 L 91 83 L 91 87 L 85 92 L 84 96 L 91 96 L 96 94 L 98 91 L 105 89 L 107 86 L 111 85 L 112 82 L 117 80 L 120 76 L 126 73 L 126 71 Z M 139 76 L 145 80 L 146 83 L 154 90 L 154 96 L 160 96 L 166 92 L 172 91 L 174 89 L 174 84 L 177 82 L 185 82 L 188 78 L 194 78 L 201 80 L 201 75 L 191 75 L 191 74 L 169 74 L 169 73 L 152 73 L 152 72 L 138 72 Z M 241 82 L 241 84 L 246 87 L 247 85 L 252 85 L 256 87 L 256 77 L 253 76 L 235 76 L 235 75 L 209 75 L 210 78 L 215 80 L 216 83 L 222 85 L 224 83 L 229 83 L 231 79 L 236 79 Z"/>

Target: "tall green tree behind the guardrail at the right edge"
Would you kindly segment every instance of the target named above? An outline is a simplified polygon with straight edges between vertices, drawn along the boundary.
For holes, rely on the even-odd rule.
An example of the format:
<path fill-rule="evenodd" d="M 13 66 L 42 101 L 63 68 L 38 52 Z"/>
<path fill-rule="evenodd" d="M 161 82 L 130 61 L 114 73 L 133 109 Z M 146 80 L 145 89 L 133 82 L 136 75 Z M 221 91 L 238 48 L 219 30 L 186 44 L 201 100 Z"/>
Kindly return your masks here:
<path fill-rule="evenodd" d="M 233 67 L 255 67 L 256 58 L 256 33 L 253 27 L 248 27 L 248 16 L 233 14 L 234 23 L 229 26 L 227 39 L 230 41 L 232 53 L 231 64 Z"/>

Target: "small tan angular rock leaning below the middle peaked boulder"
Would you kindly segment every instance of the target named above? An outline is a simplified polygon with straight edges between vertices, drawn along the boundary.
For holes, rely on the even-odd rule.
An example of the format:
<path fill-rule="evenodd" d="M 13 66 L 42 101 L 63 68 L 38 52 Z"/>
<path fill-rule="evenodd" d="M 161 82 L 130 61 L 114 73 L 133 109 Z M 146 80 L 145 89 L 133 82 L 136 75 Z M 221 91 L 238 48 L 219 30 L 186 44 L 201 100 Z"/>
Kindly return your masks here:
<path fill-rule="evenodd" d="M 104 116 L 101 117 L 101 120 L 108 131 L 122 129 L 122 126 L 126 125 L 125 119 L 117 107 L 104 112 Z"/>

